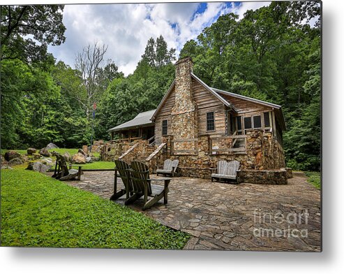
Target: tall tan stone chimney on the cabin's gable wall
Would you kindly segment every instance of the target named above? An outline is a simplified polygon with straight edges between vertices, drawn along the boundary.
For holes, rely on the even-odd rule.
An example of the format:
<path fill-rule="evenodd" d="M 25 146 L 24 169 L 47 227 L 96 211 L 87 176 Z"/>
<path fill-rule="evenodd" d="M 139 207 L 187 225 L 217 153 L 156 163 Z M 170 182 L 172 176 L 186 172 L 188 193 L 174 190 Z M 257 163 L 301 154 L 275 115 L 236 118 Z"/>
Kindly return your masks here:
<path fill-rule="evenodd" d="M 197 105 L 193 101 L 190 57 L 176 64 L 175 101 L 172 108 L 171 131 L 174 140 L 197 138 Z M 196 150 L 197 141 L 174 143 L 174 150 Z"/>

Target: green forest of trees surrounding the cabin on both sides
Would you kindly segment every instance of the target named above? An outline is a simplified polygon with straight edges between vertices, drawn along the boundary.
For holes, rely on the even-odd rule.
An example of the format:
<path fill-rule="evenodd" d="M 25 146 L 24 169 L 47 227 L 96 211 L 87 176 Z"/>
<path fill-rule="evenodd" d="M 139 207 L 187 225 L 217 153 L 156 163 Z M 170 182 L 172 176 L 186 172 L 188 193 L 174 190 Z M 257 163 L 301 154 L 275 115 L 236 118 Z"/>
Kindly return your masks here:
<path fill-rule="evenodd" d="M 47 45 L 66 41 L 62 13 L 62 5 L 1 6 L 2 149 L 108 140 L 108 129 L 156 108 L 174 79 L 176 49 L 163 36 L 147 41 L 127 77 L 100 43 L 75 52 L 74 68 L 57 61 Z M 287 166 L 320 171 L 320 3 L 222 15 L 184 44 L 186 56 L 207 85 L 283 106 Z"/>

